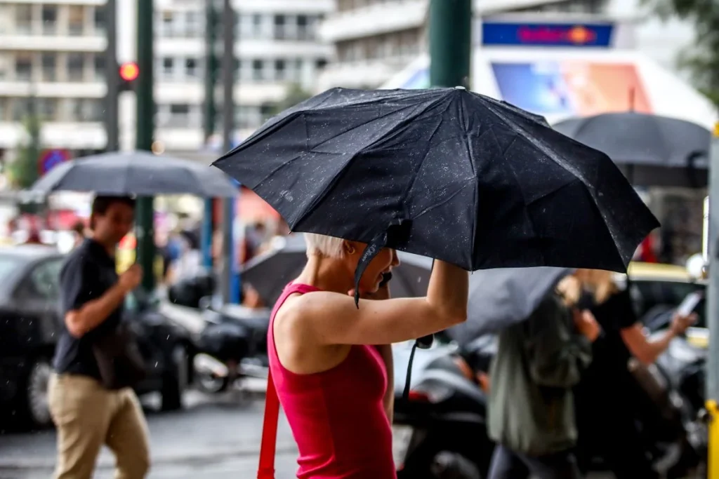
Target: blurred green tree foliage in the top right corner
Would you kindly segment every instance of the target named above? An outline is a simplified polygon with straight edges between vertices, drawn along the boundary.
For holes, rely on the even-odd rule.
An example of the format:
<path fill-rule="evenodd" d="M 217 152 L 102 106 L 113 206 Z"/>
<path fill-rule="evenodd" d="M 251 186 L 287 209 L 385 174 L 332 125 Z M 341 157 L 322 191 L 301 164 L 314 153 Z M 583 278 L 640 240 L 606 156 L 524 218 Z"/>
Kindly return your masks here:
<path fill-rule="evenodd" d="M 663 19 L 677 16 L 692 22 L 695 39 L 679 56 L 695 87 L 719 107 L 719 1 L 643 0 Z"/>

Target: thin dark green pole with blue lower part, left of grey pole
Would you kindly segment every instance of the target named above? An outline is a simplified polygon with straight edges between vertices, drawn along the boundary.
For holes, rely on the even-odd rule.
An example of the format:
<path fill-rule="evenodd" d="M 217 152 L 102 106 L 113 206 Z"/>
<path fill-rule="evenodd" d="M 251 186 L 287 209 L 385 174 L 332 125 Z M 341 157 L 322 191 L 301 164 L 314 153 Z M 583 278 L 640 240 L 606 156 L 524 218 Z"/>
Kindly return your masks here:
<path fill-rule="evenodd" d="M 217 9 L 216 2 L 207 0 L 205 2 L 205 103 L 203 129 L 205 134 L 205 145 L 209 145 L 211 136 L 215 132 L 215 119 L 217 108 L 215 102 L 215 87 L 217 85 Z M 205 199 L 205 208 L 202 218 L 202 264 L 212 271 L 212 238 L 214 233 L 214 200 Z"/>

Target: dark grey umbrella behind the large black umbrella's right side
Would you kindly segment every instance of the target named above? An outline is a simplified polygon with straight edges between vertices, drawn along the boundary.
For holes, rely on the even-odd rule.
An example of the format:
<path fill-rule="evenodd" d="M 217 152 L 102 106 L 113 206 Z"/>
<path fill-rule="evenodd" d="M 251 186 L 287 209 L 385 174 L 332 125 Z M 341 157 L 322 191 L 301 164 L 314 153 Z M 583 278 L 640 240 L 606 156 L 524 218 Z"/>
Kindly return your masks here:
<path fill-rule="evenodd" d="M 636 185 L 707 185 L 712 134 L 691 121 L 627 111 L 569 118 L 554 129 L 608 154 Z"/>

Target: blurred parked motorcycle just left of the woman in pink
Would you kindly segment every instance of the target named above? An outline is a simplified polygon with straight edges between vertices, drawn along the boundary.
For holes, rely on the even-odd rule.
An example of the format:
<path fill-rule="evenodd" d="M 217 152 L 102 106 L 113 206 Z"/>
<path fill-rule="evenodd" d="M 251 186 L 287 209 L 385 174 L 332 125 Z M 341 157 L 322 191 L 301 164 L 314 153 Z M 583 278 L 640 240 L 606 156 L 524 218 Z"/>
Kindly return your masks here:
<path fill-rule="evenodd" d="M 267 327 L 269 310 L 237 304 L 217 304 L 210 275 L 184 279 L 170 287 L 175 306 L 201 311 L 206 325 L 196 339 L 194 359 L 198 388 L 210 394 L 226 391 L 242 378 L 267 378 Z"/>

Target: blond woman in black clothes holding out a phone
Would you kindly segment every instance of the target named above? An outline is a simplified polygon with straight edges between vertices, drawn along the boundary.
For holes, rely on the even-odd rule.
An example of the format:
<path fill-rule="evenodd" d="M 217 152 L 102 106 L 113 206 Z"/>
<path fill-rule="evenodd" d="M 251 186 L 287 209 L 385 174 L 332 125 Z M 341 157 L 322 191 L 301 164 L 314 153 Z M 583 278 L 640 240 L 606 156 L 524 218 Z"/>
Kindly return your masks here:
<path fill-rule="evenodd" d="M 587 470 L 591 455 L 598 452 L 617 479 L 656 478 L 636 427 L 639 386 L 628 364 L 631 358 L 645 365 L 654 363 L 697 317 L 675 312 L 664 335 L 649 340 L 634 312 L 629 289 L 620 287 L 611 271 L 580 269 L 575 275 L 586 289 L 582 307 L 592 311 L 603 330 L 592 345 L 594 360 L 575 390 L 580 465 Z"/>

